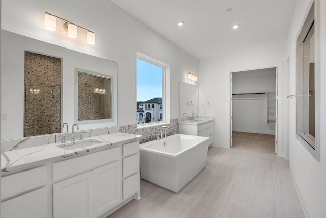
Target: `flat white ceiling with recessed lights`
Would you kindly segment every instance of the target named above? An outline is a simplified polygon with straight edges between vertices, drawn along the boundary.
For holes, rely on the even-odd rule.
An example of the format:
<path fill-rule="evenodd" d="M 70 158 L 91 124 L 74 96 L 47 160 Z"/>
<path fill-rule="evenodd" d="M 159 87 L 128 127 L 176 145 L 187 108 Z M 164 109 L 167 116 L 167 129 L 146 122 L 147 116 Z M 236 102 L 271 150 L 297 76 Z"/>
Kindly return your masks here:
<path fill-rule="evenodd" d="M 111 0 L 198 59 L 284 43 L 297 0 Z M 231 12 L 226 12 L 232 8 Z M 184 21 L 178 27 L 177 21 Z M 233 30 L 239 23 L 240 28 Z"/>

